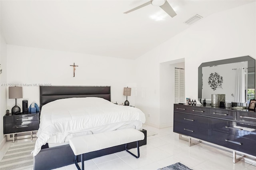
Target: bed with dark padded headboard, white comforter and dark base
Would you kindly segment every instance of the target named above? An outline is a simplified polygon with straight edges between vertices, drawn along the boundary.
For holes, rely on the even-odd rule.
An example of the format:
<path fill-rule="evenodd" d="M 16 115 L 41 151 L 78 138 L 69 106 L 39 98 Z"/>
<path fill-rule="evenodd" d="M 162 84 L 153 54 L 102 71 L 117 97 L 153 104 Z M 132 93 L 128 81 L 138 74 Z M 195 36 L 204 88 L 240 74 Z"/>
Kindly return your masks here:
<path fill-rule="evenodd" d="M 34 170 L 54 169 L 73 164 L 74 153 L 68 144 L 68 139 L 77 135 L 134 127 L 145 135 L 144 140 L 139 142 L 140 146 L 146 144 L 146 130 L 142 129 L 144 118 L 142 115 L 132 113 L 139 109 L 111 103 L 110 86 L 40 86 L 39 88 L 41 113 L 38 139 L 33 151 Z M 86 109 L 80 108 L 80 105 L 84 106 L 83 103 L 88 103 L 84 107 Z M 96 107 L 93 107 L 94 105 Z M 122 111 L 115 113 L 121 116 L 112 116 L 115 117 L 114 120 L 110 119 L 112 106 L 114 110 Z M 66 111 L 67 109 L 69 110 Z M 94 112 L 95 114 L 92 114 Z M 104 115 L 103 118 L 102 115 Z M 132 119 L 127 118 L 126 115 L 130 115 L 128 117 Z M 88 117 L 93 121 L 88 121 Z M 74 121 L 80 121 L 80 123 Z M 72 126 L 78 124 L 82 126 Z M 72 129 L 67 129 L 71 127 Z M 135 147 L 135 142 L 128 145 L 128 148 Z M 122 150 L 124 146 L 120 145 L 90 152 L 86 155 L 86 160 Z"/>

